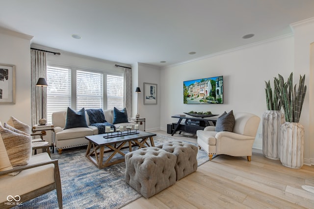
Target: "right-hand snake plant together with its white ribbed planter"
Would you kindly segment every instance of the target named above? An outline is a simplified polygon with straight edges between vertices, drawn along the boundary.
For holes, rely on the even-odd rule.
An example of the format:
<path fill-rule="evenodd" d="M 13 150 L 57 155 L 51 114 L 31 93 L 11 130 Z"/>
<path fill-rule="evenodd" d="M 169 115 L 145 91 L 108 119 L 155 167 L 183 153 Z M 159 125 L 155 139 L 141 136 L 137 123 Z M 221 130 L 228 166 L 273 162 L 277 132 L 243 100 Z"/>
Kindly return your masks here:
<path fill-rule="evenodd" d="M 288 81 L 279 74 L 275 78 L 275 85 L 278 88 L 278 98 L 285 113 L 286 122 L 281 125 L 281 151 L 280 162 L 290 168 L 301 168 L 303 166 L 304 151 L 304 127 L 299 123 L 306 85 L 305 75 L 300 75 L 299 86 L 293 87 L 293 74 L 291 72 Z"/>

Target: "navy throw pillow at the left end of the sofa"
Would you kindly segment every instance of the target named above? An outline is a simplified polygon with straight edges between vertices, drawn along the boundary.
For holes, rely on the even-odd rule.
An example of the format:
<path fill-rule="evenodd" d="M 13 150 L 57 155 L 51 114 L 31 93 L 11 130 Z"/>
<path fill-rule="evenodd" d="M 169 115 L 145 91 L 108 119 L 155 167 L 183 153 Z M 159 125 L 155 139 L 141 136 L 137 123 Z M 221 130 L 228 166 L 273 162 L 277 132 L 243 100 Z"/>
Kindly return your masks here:
<path fill-rule="evenodd" d="M 85 109 L 82 108 L 78 112 L 75 112 L 68 107 L 67 120 L 65 122 L 64 129 L 68 128 L 78 128 L 78 127 L 88 127 L 85 117 Z"/>

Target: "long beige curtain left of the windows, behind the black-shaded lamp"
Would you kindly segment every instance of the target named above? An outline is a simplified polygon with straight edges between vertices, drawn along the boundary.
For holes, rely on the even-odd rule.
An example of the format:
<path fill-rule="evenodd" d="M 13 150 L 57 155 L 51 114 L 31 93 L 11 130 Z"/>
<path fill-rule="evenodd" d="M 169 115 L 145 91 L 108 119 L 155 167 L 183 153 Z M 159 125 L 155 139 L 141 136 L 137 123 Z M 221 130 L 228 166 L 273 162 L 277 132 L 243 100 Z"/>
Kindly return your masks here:
<path fill-rule="evenodd" d="M 31 57 L 31 122 L 32 125 L 38 124 L 38 120 L 42 117 L 47 118 L 47 87 L 43 88 L 43 95 L 41 88 L 36 86 L 38 78 L 45 78 L 47 80 L 47 61 L 46 52 L 30 49 Z M 43 96 L 43 106 L 42 106 Z"/>

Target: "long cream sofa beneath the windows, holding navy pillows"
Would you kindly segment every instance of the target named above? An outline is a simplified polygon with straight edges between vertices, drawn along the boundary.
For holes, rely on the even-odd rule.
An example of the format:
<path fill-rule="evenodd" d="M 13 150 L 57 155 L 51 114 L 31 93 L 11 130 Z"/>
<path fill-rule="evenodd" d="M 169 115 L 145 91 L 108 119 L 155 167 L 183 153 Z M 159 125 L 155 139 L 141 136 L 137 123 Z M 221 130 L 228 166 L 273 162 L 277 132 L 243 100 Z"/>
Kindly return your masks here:
<path fill-rule="evenodd" d="M 113 121 L 113 110 L 104 110 L 105 119 L 107 122 L 112 124 Z M 98 134 L 98 128 L 96 126 L 91 126 L 88 115 L 85 111 L 85 117 L 88 128 L 69 128 L 64 129 L 66 123 L 67 111 L 58 111 L 52 113 L 52 124 L 54 130 L 54 146 L 58 149 L 59 154 L 62 153 L 63 149 L 83 146 L 88 144 L 88 140 L 85 139 L 86 136 Z M 115 127 L 120 126 L 134 126 L 134 121 L 129 121 L 128 123 L 117 123 L 114 124 Z"/>

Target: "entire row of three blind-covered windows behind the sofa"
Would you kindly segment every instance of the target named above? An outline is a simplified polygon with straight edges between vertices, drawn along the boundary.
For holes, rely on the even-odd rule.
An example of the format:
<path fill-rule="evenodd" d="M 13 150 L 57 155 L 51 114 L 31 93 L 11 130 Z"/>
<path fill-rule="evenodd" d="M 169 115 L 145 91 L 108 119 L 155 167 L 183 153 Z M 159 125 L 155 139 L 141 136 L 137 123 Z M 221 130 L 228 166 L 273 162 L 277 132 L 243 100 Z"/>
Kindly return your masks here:
<path fill-rule="evenodd" d="M 52 123 L 53 112 L 66 110 L 68 107 L 77 111 L 83 107 L 124 108 L 123 74 L 47 66 L 47 82 L 49 123 Z"/>

